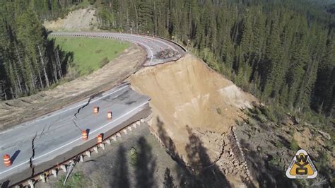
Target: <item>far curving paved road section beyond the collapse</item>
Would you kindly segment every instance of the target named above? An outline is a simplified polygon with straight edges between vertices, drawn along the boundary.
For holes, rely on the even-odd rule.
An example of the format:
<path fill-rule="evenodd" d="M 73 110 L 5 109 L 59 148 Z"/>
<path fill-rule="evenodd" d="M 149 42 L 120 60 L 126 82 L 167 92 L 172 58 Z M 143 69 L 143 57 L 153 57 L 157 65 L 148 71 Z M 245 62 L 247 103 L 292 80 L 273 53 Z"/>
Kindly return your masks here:
<path fill-rule="evenodd" d="M 57 33 L 51 33 L 50 35 L 102 37 L 102 38 L 113 38 L 117 40 L 125 40 L 128 42 L 132 42 L 137 45 L 141 45 L 144 49 L 146 49 L 148 61 L 144 64 L 145 66 L 153 66 L 155 64 L 163 64 L 167 61 L 174 61 L 184 56 L 185 54 L 185 49 L 180 47 L 180 45 L 153 36 L 136 35 L 136 34 L 131 35 L 123 33 L 89 33 L 89 32 L 78 32 L 78 33 L 57 32 Z M 175 57 L 167 59 L 158 59 L 157 57 L 155 57 L 156 53 L 164 49 L 174 50 L 178 52 L 178 54 Z"/>

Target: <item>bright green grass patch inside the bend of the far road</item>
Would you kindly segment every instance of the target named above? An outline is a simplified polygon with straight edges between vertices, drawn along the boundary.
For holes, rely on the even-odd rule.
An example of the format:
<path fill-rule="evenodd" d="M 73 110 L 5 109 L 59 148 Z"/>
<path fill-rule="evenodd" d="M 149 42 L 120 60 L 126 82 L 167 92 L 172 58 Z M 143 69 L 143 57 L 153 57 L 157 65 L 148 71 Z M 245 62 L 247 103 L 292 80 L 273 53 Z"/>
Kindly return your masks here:
<path fill-rule="evenodd" d="M 90 74 L 119 56 L 129 47 L 125 42 L 87 37 L 54 37 L 56 45 L 62 50 L 74 53 L 71 66 L 79 76 Z M 103 63 L 102 63 L 103 62 Z"/>

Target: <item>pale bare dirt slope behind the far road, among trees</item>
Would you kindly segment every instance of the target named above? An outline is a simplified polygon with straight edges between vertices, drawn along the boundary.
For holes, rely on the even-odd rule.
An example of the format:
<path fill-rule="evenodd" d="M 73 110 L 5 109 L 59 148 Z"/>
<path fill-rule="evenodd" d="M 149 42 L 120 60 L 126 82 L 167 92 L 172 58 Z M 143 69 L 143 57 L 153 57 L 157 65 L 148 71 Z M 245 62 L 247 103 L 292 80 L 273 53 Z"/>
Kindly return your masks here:
<path fill-rule="evenodd" d="M 70 12 L 64 19 L 45 21 L 43 25 L 48 30 L 84 31 L 97 28 L 98 19 L 95 9 L 83 8 Z"/>

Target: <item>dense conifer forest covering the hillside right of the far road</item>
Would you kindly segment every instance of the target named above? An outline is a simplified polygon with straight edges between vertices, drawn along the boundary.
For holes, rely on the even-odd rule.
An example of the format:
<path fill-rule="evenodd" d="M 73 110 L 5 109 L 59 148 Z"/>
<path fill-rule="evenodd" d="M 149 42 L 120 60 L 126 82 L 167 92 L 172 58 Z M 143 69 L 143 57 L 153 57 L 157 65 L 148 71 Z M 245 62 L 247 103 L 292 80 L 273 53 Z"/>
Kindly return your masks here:
<path fill-rule="evenodd" d="M 101 0 L 97 6 L 102 29 L 173 38 L 265 102 L 334 116 L 335 19 L 317 1 Z"/>

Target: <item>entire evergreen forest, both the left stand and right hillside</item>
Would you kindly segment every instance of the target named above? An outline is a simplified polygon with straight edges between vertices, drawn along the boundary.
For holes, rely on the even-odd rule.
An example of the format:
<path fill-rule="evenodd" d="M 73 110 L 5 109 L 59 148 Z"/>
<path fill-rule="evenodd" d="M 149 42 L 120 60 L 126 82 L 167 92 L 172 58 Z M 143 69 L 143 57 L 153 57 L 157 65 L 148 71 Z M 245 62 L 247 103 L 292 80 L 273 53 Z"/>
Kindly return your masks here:
<path fill-rule="evenodd" d="M 62 77 L 64 55 L 50 45 L 40 20 L 63 16 L 76 4 L 94 4 L 102 29 L 182 42 L 264 102 L 334 117 L 331 0 L 1 0 L 1 98 L 33 93 Z"/>

